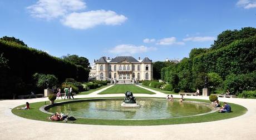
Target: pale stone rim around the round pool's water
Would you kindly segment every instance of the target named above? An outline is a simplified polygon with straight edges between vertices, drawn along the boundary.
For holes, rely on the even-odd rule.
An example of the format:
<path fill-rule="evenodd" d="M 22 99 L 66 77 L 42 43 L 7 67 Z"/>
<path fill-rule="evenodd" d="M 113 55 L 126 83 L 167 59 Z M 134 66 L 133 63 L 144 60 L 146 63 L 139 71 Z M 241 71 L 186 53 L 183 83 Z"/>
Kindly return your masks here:
<path fill-rule="evenodd" d="M 47 114 L 53 114 L 52 112 L 48 112 L 47 110 L 52 108 L 52 107 L 55 107 L 55 106 L 60 106 L 62 104 L 67 104 L 67 103 L 76 103 L 76 102 L 86 102 L 86 101 L 97 101 L 97 100 L 110 100 L 110 99 L 122 99 L 120 97 L 113 97 L 113 98 L 92 98 L 92 99 L 76 99 L 76 100 L 68 100 L 68 101 L 63 101 L 63 102 L 57 102 L 57 103 L 54 103 L 54 104 L 48 104 L 48 105 L 45 105 L 45 106 L 42 106 L 40 107 L 40 111 L 43 112 L 43 113 L 47 113 Z M 136 99 L 165 99 L 165 98 L 157 98 L 157 97 L 137 97 Z M 179 99 L 174 99 L 175 101 L 178 101 L 179 102 Z M 166 101 L 166 102 L 169 102 L 169 101 Z M 205 107 L 208 107 L 211 109 L 211 111 L 209 112 L 205 112 L 205 113 L 200 113 L 200 114 L 195 114 L 195 115 L 190 115 L 190 116 L 180 116 L 180 117 L 174 117 L 174 118 L 186 118 L 186 117 L 194 117 L 194 116 L 203 116 L 205 114 L 210 114 L 210 113 L 215 113 L 219 110 L 219 108 L 216 108 L 216 107 L 213 107 L 211 103 L 206 103 L 206 102 L 199 102 L 199 101 L 189 101 L 189 100 L 184 100 L 183 102 L 187 102 L 187 103 L 191 103 L 191 104 L 200 104 L 200 106 L 205 106 Z M 121 104 L 120 104 L 121 106 Z M 76 116 L 74 116 L 76 117 Z M 103 120 L 101 118 L 85 118 L 85 117 L 76 117 L 76 118 L 80 118 L 80 119 L 99 119 L 99 120 Z M 104 120 L 109 120 L 109 121 L 126 121 L 126 120 L 129 120 L 129 121 L 142 121 L 142 120 L 161 120 L 161 119 L 172 119 L 172 118 L 148 118 L 148 119 L 104 119 Z"/>

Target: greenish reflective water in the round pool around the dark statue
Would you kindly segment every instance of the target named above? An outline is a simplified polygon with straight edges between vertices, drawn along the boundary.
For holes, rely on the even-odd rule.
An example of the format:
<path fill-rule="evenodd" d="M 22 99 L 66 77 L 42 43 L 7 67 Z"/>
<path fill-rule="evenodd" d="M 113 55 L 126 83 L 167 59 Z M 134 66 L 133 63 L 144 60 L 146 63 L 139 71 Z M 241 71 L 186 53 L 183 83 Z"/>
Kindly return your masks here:
<path fill-rule="evenodd" d="M 163 119 L 194 116 L 212 111 L 200 103 L 166 99 L 136 99 L 139 108 L 121 107 L 122 99 L 98 99 L 66 103 L 48 109 L 48 112 L 68 113 L 69 116 L 93 119 Z"/>

